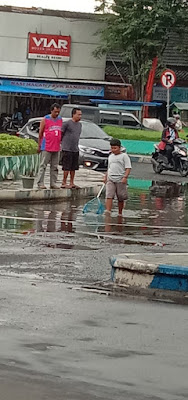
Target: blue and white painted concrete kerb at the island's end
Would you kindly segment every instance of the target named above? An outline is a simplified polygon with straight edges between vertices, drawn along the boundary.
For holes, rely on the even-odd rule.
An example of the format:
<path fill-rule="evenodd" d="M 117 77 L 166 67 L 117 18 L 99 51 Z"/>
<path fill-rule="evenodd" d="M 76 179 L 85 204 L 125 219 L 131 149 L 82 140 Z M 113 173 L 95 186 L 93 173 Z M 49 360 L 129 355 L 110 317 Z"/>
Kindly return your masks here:
<path fill-rule="evenodd" d="M 150 263 L 126 255 L 111 258 L 110 263 L 111 278 L 116 285 L 188 292 L 188 265 Z"/>

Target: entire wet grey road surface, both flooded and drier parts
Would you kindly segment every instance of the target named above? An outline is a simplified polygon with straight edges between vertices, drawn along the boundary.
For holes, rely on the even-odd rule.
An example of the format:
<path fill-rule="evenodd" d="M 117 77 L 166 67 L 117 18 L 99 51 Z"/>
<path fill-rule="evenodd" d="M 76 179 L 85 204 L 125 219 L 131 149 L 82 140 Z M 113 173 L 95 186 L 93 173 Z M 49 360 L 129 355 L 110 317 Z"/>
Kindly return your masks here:
<path fill-rule="evenodd" d="M 118 253 L 186 253 L 188 178 L 134 164 L 123 218 L 79 202 L 0 205 L 2 400 L 187 398 L 183 306 L 84 293 Z M 142 185 L 141 185 L 142 186 Z M 12 386 L 10 386 L 10 383 Z"/>

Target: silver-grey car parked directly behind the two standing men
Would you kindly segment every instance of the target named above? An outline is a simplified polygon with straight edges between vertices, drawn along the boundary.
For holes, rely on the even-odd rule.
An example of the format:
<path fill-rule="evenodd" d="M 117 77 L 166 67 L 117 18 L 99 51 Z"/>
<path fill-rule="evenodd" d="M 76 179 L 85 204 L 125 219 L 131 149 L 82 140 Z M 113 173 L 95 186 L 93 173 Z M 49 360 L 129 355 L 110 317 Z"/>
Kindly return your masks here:
<path fill-rule="evenodd" d="M 42 117 L 29 119 L 20 129 L 18 135 L 22 138 L 38 141 L 41 119 Z M 67 119 L 69 118 L 63 118 L 64 121 Z M 97 171 L 105 171 L 110 152 L 110 136 L 93 122 L 83 120 L 81 124 L 82 133 L 79 141 L 80 165 Z M 125 151 L 124 148 L 122 150 Z"/>

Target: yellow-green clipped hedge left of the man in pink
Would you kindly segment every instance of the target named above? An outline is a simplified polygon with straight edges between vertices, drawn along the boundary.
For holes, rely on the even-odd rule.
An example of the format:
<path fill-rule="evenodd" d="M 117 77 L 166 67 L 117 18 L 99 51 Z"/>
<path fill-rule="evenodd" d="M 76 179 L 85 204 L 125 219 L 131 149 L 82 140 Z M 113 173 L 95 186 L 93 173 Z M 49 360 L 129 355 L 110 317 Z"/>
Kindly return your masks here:
<path fill-rule="evenodd" d="M 38 145 L 34 140 L 21 139 L 7 134 L 0 135 L 0 156 L 36 154 Z"/>

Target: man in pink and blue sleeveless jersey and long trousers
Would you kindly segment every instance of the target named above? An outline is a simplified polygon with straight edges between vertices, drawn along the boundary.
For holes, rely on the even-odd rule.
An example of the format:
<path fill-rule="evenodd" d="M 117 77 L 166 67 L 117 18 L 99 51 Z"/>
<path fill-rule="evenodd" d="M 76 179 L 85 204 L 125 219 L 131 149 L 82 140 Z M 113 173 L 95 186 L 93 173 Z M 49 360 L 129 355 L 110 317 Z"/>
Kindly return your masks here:
<path fill-rule="evenodd" d="M 59 116 L 59 113 L 60 105 L 57 103 L 52 104 L 51 114 L 46 115 L 40 123 L 38 152 L 42 152 L 42 157 L 37 182 L 39 189 L 46 189 L 44 185 L 44 175 L 49 163 L 50 188 L 59 189 L 58 186 L 56 186 L 62 130 L 62 118 Z"/>

